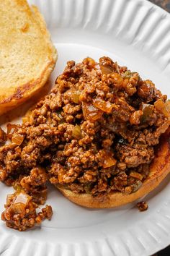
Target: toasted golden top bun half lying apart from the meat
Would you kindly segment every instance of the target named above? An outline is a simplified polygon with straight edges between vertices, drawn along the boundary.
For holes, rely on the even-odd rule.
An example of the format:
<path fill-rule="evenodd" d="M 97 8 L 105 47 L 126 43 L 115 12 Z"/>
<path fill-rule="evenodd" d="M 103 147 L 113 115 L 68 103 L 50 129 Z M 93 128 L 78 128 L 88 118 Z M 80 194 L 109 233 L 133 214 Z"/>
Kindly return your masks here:
<path fill-rule="evenodd" d="M 37 7 L 0 1 L 0 114 L 32 97 L 55 67 L 57 51 Z"/>

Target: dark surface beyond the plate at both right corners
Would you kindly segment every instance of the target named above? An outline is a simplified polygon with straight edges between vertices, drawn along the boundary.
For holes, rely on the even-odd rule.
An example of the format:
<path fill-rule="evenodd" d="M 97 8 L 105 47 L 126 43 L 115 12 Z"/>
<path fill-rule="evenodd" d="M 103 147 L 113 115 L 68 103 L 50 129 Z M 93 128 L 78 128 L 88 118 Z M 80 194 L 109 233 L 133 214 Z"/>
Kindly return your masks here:
<path fill-rule="evenodd" d="M 150 0 L 153 4 L 157 4 L 159 7 L 162 7 L 167 12 L 170 12 L 170 0 Z M 170 244 L 170 241 L 169 241 Z M 161 250 L 154 256 L 170 256 L 170 246 L 166 247 L 166 249 Z"/>

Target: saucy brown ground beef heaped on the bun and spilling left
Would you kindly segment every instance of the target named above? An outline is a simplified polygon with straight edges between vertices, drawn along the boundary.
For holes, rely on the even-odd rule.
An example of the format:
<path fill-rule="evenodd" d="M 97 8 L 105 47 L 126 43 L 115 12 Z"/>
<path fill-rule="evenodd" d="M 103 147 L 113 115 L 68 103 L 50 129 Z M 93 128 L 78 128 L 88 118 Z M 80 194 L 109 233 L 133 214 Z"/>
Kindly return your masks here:
<path fill-rule="evenodd" d="M 0 180 L 32 203 L 16 223 L 12 195 L 2 219 L 19 230 L 32 226 L 33 205 L 45 203 L 48 180 L 94 197 L 137 191 L 148 176 L 154 146 L 169 127 L 169 111 L 166 95 L 151 80 L 108 57 L 99 63 L 68 61 L 51 93 L 23 124 L 7 127 L 10 142 L 0 148 Z M 2 142 L 4 137 L 0 131 Z"/>

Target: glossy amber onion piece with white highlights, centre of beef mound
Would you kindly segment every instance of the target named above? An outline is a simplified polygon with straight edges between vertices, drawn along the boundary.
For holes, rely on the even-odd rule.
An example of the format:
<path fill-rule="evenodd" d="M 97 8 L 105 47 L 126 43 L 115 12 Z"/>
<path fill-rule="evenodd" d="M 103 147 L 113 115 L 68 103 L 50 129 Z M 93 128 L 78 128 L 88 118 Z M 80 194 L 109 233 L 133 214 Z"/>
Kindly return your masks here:
<path fill-rule="evenodd" d="M 103 111 L 96 108 L 91 103 L 82 103 L 82 109 L 85 119 L 96 121 L 102 117 Z"/>

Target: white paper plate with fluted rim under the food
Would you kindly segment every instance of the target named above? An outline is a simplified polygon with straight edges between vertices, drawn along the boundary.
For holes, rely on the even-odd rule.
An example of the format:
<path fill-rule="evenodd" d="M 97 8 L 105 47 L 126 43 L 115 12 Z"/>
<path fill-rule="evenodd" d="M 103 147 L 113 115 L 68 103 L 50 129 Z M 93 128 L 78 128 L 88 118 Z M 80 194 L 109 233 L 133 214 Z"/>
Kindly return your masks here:
<path fill-rule="evenodd" d="M 170 15 L 144 0 L 37 0 L 48 23 L 58 62 L 52 80 L 68 60 L 107 55 L 149 78 L 169 95 Z M 135 204 L 113 210 L 88 210 L 50 187 L 52 221 L 19 233 L 0 222 L 3 256 L 151 255 L 170 242 L 170 187 L 167 179 L 146 197 L 149 208 Z M 0 184 L 1 204 L 11 188 Z M 4 253 L 2 253 L 4 252 Z"/>

